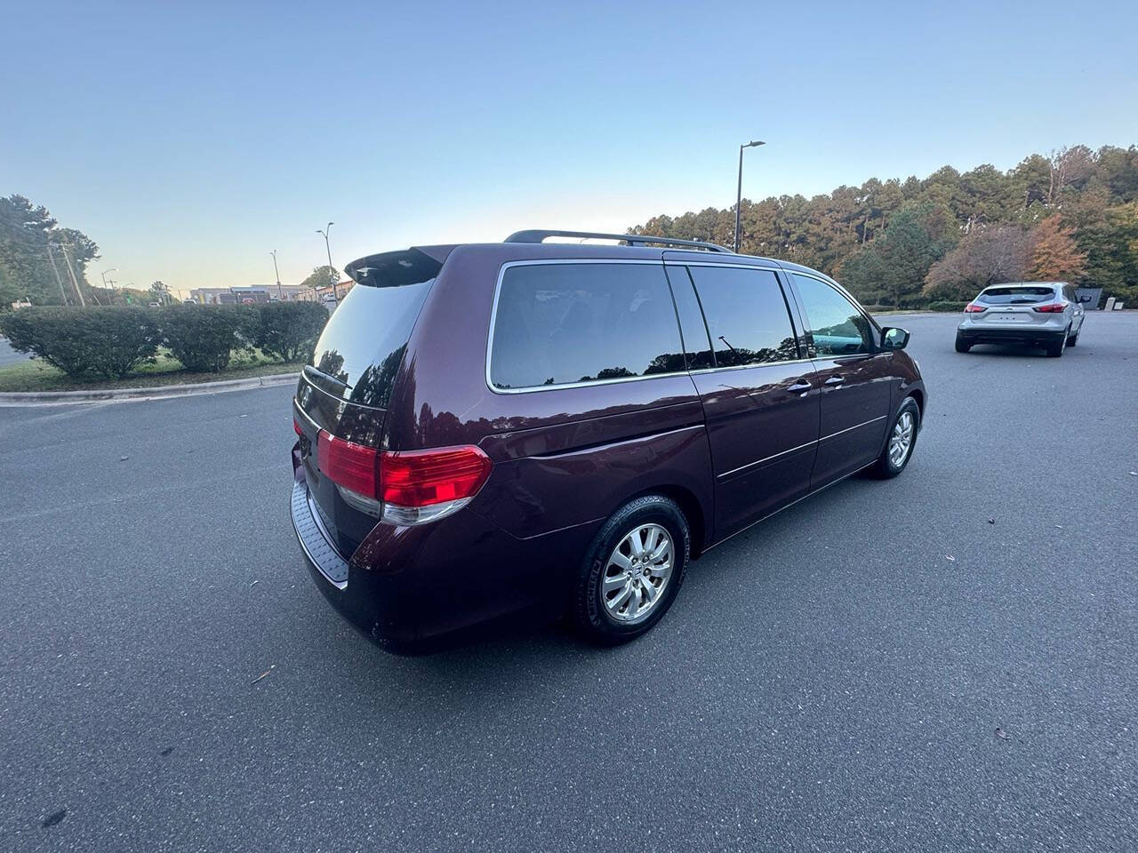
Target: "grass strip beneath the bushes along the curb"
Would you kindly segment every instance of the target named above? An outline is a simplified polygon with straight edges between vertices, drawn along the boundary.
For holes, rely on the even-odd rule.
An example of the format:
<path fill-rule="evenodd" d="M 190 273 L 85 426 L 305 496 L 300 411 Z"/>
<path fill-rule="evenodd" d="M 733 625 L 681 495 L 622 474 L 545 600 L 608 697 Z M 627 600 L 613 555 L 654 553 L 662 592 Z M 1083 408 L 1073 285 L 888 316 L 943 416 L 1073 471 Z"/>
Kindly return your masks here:
<path fill-rule="evenodd" d="M 126 379 L 76 381 L 57 367 L 31 358 L 0 367 L 0 392 L 3 391 L 85 391 L 106 388 L 155 388 L 157 386 L 216 382 L 223 379 L 267 376 L 274 373 L 299 373 L 302 364 L 286 364 L 261 350 L 233 354 L 229 367 L 221 373 L 190 373 L 168 350 L 158 350 L 154 364 L 143 364 Z"/>

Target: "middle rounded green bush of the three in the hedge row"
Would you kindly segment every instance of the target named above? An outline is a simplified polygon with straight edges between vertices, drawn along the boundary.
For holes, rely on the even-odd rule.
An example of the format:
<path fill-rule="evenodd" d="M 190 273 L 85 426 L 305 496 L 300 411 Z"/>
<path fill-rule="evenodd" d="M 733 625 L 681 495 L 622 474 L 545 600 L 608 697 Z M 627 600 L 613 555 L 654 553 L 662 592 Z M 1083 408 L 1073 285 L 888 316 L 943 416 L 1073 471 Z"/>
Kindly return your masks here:
<path fill-rule="evenodd" d="M 254 312 L 244 305 L 170 305 L 156 314 L 174 358 L 188 370 L 217 373 L 234 349 L 249 346 Z"/>

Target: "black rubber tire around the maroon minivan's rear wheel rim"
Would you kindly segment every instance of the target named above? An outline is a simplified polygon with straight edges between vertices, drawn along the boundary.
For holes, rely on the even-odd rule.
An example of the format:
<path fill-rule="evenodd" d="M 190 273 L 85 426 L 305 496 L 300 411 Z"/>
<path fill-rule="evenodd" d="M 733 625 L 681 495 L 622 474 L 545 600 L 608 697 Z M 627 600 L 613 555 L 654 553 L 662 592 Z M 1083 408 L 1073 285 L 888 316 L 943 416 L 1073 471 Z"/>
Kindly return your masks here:
<path fill-rule="evenodd" d="M 603 580 L 610 570 L 610 556 L 618 547 L 622 547 L 626 538 L 643 525 L 658 525 L 671 539 L 671 570 L 667 581 L 661 585 L 658 598 L 651 606 L 645 606 L 646 615 L 630 619 L 627 614 L 615 618 L 603 596 Z M 572 601 L 569 614 L 578 631 L 586 638 L 601 645 L 617 645 L 645 633 L 668 612 L 679 593 L 687 571 L 687 560 L 691 554 L 691 530 L 683 511 L 670 498 L 662 495 L 646 495 L 636 498 L 617 510 L 604 525 L 593 537 L 593 541 L 582 561 L 574 585 Z M 646 578 L 646 575 L 644 575 Z M 641 580 L 651 582 L 650 580 Z M 620 593 L 610 590 L 619 597 Z M 646 593 L 637 591 L 637 602 L 648 602 Z M 630 604 L 626 605 L 630 607 Z"/>

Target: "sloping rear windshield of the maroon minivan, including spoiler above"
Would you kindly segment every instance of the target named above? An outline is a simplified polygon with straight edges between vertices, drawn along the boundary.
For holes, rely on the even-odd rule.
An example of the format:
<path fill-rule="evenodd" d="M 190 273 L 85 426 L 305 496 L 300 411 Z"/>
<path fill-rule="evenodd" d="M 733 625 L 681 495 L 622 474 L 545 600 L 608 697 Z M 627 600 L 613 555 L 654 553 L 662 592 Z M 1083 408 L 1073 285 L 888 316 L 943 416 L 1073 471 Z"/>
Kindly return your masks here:
<path fill-rule="evenodd" d="M 336 382 L 314 381 L 353 403 L 386 408 L 411 330 L 442 267 L 415 249 L 351 264 L 360 283 L 332 313 L 312 358 Z"/>

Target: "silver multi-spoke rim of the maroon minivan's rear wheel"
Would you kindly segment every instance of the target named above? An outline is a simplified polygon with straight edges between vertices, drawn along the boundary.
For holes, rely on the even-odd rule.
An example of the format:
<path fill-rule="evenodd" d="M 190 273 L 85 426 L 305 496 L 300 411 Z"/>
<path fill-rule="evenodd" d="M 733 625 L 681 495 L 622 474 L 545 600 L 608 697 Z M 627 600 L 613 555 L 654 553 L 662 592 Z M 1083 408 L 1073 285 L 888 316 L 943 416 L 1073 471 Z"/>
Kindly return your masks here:
<path fill-rule="evenodd" d="M 659 524 L 641 524 L 612 549 L 601 578 L 601 601 L 617 622 L 648 619 L 671 579 L 675 548 Z"/>

